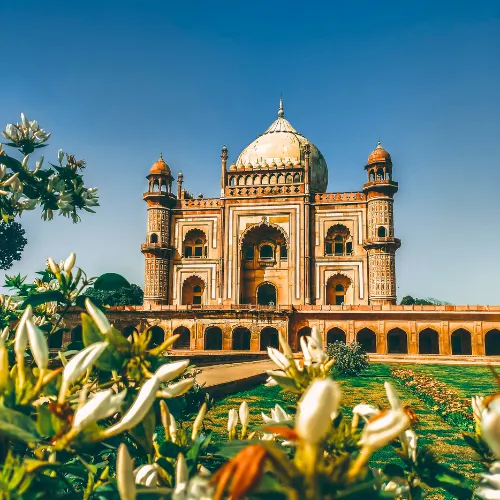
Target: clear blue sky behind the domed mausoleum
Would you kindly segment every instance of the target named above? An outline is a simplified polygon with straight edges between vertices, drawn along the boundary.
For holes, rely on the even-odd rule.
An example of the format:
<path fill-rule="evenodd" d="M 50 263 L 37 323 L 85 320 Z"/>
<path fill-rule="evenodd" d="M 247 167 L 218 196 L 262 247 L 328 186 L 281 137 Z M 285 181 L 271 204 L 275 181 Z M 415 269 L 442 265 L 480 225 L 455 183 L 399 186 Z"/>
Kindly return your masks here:
<path fill-rule="evenodd" d="M 163 152 L 194 194 L 286 117 L 324 154 L 329 191 L 360 190 L 377 139 L 394 161 L 398 297 L 500 303 L 500 3 L 9 2 L 0 123 L 23 111 L 87 161 L 101 207 L 73 225 L 23 216 L 9 271 L 77 252 L 142 285 L 145 175 Z"/>

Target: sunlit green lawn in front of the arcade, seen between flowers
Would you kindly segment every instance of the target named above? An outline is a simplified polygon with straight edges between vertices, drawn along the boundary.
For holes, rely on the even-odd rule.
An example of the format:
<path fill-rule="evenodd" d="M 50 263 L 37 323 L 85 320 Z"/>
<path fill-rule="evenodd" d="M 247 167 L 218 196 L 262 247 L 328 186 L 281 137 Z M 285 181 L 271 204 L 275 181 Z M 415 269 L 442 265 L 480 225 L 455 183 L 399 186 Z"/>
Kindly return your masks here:
<path fill-rule="evenodd" d="M 350 417 L 351 408 L 362 402 L 381 407 L 388 406 L 383 383 L 390 379 L 393 367 L 409 368 L 432 375 L 454 387 L 464 398 L 470 398 L 475 394 L 491 394 L 497 390 L 495 380 L 487 367 L 371 364 L 370 368 L 359 377 L 338 379 L 342 388 L 342 405 L 346 415 Z M 397 389 L 404 404 L 410 405 L 418 415 L 417 433 L 420 443 L 429 445 L 452 469 L 465 474 L 471 480 L 477 480 L 479 474 L 483 472 L 482 466 L 477 461 L 476 454 L 463 441 L 460 431 L 444 422 L 408 390 L 399 386 Z M 238 408 L 242 401 L 247 401 L 251 422 L 258 426 L 262 424 L 260 413 L 263 411 L 269 414 L 270 409 L 276 403 L 287 411 L 294 410 L 293 401 L 284 397 L 286 398 L 286 393 L 280 391 L 279 388 L 260 386 L 221 400 L 208 414 L 213 422 L 213 429 L 218 435 L 217 439 L 225 439 L 227 414 L 230 408 Z M 376 453 L 371 465 L 376 467 L 388 461 L 393 463 L 399 461 L 391 449 Z M 452 499 L 454 497 L 446 492 L 434 491 L 427 498 Z"/>

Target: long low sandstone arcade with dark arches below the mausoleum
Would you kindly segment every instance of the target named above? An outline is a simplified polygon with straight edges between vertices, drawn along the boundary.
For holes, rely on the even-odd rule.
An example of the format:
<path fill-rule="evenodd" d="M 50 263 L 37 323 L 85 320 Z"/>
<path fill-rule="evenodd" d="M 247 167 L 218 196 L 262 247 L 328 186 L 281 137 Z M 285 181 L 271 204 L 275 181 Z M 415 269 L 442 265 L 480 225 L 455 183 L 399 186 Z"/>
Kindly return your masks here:
<path fill-rule="evenodd" d="M 341 275 L 336 275 L 336 279 Z M 204 283 L 193 276 L 186 281 L 194 288 Z M 272 285 L 271 285 L 272 286 Z M 260 288 L 255 290 L 259 293 Z M 270 292 L 272 293 L 272 290 Z M 267 298 L 266 298 L 267 300 Z M 406 306 L 390 306 L 386 310 L 348 308 L 338 312 L 309 310 L 277 311 L 273 309 L 222 309 L 224 320 L 215 319 L 214 311 L 200 309 L 112 308 L 107 312 L 110 321 L 129 337 L 134 332 L 148 331 L 150 346 L 157 346 L 170 335 L 179 335 L 174 350 L 209 351 L 265 351 L 278 348 L 278 332 L 288 338 L 292 348 L 300 349 L 300 337 L 311 334 L 317 327 L 326 343 L 357 340 L 367 352 L 394 356 L 500 356 L 500 308 L 484 313 L 484 321 L 466 321 L 452 313 L 445 315 L 430 311 L 404 309 Z M 492 307 L 492 306 L 491 306 Z M 385 314 L 397 312 L 398 321 L 380 319 Z M 82 330 L 78 326 L 80 311 L 68 315 L 68 331 L 64 338 L 54 336 L 50 347 L 57 348 L 68 342 L 81 342 Z M 478 313 L 470 313 L 473 318 Z M 433 317 L 434 316 L 434 317 Z M 404 320 L 404 318 L 407 318 Z M 486 321 L 488 320 L 488 321 Z"/>

